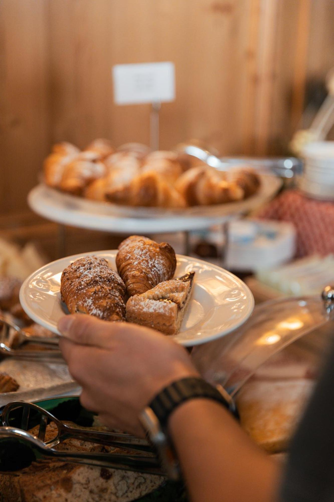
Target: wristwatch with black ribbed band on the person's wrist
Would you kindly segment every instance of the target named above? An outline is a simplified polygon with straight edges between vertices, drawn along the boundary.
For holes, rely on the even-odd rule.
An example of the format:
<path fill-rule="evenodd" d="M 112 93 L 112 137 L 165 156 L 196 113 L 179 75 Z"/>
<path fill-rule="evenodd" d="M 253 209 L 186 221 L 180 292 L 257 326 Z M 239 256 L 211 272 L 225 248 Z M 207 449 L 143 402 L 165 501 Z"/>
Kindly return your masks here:
<path fill-rule="evenodd" d="M 220 385 L 213 387 L 198 377 L 184 378 L 165 387 L 139 416 L 148 439 L 157 451 L 162 467 L 173 480 L 180 479 L 180 468 L 173 442 L 168 434 L 168 420 L 172 412 L 182 403 L 198 398 L 212 399 L 238 418 L 234 401 L 225 389 Z"/>

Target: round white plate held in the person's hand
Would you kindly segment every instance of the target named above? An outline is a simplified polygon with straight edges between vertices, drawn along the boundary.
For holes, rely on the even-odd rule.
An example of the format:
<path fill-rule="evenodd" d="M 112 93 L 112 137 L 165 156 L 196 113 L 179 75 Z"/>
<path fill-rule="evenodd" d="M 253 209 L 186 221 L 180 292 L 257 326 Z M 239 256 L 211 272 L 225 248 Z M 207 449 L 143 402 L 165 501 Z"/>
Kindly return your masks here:
<path fill-rule="evenodd" d="M 117 250 L 99 251 L 95 256 L 108 260 L 116 270 Z M 23 283 L 20 302 L 37 323 L 58 333 L 58 320 L 67 313 L 60 299 L 62 271 L 84 253 L 62 258 L 34 272 Z M 251 315 L 254 298 L 249 288 L 230 272 L 210 263 L 177 255 L 175 277 L 195 271 L 193 294 L 180 332 L 173 338 L 185 346 L 215 340 L 241 326 Z"/>

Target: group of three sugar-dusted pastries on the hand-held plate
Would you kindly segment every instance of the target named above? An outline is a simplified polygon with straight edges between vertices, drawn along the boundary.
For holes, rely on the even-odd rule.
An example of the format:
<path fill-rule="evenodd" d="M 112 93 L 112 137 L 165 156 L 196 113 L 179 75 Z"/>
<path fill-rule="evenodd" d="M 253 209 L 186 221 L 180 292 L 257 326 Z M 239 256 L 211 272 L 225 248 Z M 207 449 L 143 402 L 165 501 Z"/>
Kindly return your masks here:
<path fill-rule="evenodd" d="M 118 274 L 103 258 L 85 256 L 63 270 L 61 299 L 71 314 L 105 321 L 129 321 L 166 334 L 176 334 L 189 303 L 194 272 L 173 279 L 177 266 L 173 247 L 142 235 L 118 246 Z"/>

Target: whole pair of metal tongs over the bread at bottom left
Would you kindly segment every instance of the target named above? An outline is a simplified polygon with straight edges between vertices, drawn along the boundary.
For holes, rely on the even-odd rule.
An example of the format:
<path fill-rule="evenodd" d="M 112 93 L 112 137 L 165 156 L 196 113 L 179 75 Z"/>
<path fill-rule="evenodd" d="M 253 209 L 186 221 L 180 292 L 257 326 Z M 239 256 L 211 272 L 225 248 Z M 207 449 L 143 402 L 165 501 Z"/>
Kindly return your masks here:
<path fill-rule="evenodd" d="M 4 427 L 0 427 L 0 440 L 4 437 L 24 439 L 30 443 L 32 448 L 37 448 L 43 456 L 51 456 L 66 462 L 162 474 L 152 448 L 145 440 L 135 438 L 129 434 L 90 431 L 70 427 L 43 408 L 22 401 L 12 402 L 5 406 L 2 413 L 2 422 Z M 51 423 L 56 425 L 56 430 L 54 436 L 46 441 L 47 426 Z M 20 428 L 18 428 L 18 424 L 20 424 Z M 36 436 L 27 432 L 35 424 L 39 425 Z M 77 453 L 59 451 L 53 448 L 69 438 L 111 446 L 121 449 L 123 452 Z M 128 453 L 129 450 L 130 453 Z"/>

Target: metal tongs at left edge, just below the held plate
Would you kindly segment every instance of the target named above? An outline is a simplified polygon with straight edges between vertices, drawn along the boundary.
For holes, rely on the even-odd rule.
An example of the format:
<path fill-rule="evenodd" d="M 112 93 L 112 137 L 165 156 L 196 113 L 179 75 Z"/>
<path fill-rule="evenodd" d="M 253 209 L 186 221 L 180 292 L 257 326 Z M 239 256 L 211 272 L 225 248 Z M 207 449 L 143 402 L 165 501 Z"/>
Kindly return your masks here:
<path fill-rule="evenodd" d="M 27 335 L 22 329 L 10 319 L 0 315 L 0 356 L 12 356 L 23 359 L 54 359 L 61 357 L 61 352 L 57 348 L 59 337 L 39 337 Z M 15 340 L 15 345 L 12 346 Z M 22 350 L 23 343 L 38 343 L 45 346 L 43 350 Z"/>

